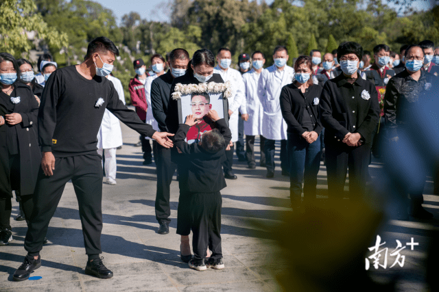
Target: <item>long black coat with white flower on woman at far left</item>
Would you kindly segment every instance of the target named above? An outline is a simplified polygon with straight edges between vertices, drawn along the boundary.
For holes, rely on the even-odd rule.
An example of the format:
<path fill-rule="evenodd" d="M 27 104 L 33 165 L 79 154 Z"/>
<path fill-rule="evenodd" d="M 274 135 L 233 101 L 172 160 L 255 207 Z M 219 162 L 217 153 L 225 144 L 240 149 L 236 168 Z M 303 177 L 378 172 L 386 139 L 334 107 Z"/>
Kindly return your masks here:
<path fill-rule="evenodd" d="M 24 196 L 34 194 L 36 178 L 38 176 L 38 170 L 40 169 L 41 163 L 41 152 L 38 146 L 38 139 L 35 131 L 38 116 L 38 102 L 36 101 L 34 93 L 29 86 L 20 82 L 14 83 L 14 86 L 15 89 L 12 91 L 10 96 L 7 97 L 8 99 L 5 100 L 4 95 L 1 97 L 1 99 L 3 99 L 3 103 L 12 103 L 10 101 L 10 97 L 20 96 L 19 103 L 6 106 L 8 107 L 8 114 L 21 114 L 21 118 L 23 120 L 20 124 L 16 124 L 12 127 L 15 127 L 16 129 L 16 135 L 19 142 L 21 179 L 20 191 L 21 195 Z M 0 140 L 0 144 L 3 146 L 3 140 Z M 1 176 L 9 177 L 9 166 L 8 171 L 2 171 Z"/>

